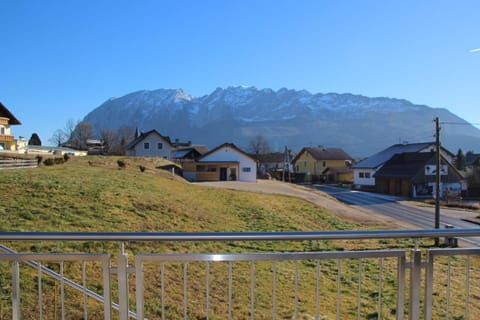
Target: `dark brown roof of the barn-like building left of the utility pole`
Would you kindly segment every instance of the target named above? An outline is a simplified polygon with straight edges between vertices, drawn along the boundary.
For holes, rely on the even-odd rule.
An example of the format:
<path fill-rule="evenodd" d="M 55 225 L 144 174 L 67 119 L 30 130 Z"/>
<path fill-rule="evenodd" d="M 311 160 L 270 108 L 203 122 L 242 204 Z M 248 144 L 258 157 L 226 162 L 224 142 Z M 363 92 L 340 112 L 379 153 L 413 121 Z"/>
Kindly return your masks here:
<path fill-rule="evenodd" d="M 413 178 L 434 159 L 435 153 L 432 152 L 399 153 L 385 162 L 383 167 L 375 173 L 375 178 Z"/>

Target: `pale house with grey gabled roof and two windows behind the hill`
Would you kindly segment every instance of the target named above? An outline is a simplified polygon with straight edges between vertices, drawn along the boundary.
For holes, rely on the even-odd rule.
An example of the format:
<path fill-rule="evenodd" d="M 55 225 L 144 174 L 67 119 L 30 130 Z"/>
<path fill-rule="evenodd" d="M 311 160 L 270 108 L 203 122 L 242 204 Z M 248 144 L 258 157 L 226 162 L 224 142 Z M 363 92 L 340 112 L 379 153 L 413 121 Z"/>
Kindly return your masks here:
<path fill-rule="evenodd" d="M 162 136 L 157 130 L 142 133 L 125 146 L 127 156 L 161 157 L 170 160 L 173 145 L 169 137 Z"/>

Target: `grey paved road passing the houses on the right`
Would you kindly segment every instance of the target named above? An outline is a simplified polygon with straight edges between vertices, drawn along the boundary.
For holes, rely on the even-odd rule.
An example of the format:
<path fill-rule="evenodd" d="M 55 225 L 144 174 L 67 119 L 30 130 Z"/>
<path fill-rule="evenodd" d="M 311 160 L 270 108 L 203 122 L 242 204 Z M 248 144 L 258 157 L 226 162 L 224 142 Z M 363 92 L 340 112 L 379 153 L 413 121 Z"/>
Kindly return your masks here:
<path fill-rule="evenodd" d="M 312 188 L 328 193 L 330 196 L 350 205 L 360 206 L 373 212 L 401 219 L 420 228 L 433 229 L 435 227 L 435 209 L 409 204 L 404 198 L 354 191 L 325 185 L 312 185 Z M 467 221 L 478 217 L 478 213 L 444 209 L 440 210 L 440 227 L 451 225 L 454 228 L 476 229 L 480 226 Z M 480 246 L 480 238 L 473 239 Z M 470 241 L 469 241 L 470 242 Z"/>

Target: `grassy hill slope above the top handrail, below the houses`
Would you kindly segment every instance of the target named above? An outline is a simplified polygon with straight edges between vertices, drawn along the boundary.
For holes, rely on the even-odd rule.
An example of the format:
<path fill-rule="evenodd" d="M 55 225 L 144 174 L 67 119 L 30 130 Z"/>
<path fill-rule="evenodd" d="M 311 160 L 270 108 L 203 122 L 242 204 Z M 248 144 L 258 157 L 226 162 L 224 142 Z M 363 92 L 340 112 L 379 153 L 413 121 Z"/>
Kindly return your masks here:
<path fill-rule="evenodd" d="M 3 170 L 0 228 L 168 232 L 359 227 L 291 197 L 191 185 L 158 169 L 165 164 L 162 159 L 72 157 L 60 165 Z"/>

